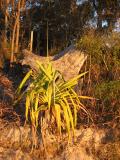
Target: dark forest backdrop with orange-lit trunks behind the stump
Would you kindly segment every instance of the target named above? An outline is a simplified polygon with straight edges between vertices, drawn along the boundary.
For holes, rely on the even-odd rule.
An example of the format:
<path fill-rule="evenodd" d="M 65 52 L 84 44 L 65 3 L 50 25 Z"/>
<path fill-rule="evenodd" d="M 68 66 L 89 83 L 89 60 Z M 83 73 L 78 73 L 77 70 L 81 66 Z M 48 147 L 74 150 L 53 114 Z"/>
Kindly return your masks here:
<path fill-rule="evenodd" d="M 33 30 L 33 50 L 45 54 L 47 24 L 49 50 L 55 51 L 79 38 L 86 27 L 114 29 L 119 10 L 119 0 L 1 0 L 0 35 L 13 54 L 29 47 Z"/>

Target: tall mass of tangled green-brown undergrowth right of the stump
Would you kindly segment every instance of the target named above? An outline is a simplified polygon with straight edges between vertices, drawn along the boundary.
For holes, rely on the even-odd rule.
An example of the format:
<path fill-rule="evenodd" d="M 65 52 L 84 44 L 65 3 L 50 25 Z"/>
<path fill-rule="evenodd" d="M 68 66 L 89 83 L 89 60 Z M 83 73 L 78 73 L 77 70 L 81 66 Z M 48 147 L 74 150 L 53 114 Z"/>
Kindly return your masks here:
<path fill-rule="evenodd" d="M 88 54 L 85 70 L 90 72 L 84 79 L 86 87 L 82 92 L 99 99 L 93 102 L 94 110 L 90 109 L 92 117 L 99 123 L 112 114 L 115 120 L 120 117 L 120 33 L 88 31 L 76 45 Z"/>

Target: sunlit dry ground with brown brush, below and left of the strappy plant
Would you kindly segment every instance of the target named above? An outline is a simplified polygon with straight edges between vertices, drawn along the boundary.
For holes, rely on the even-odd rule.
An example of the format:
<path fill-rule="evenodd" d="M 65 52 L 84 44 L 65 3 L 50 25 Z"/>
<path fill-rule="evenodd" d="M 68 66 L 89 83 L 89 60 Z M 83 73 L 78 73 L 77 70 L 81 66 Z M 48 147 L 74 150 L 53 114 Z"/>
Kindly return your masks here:
<path fill-rule="evenodd" d="M 0 71 L 0 160 L 119 160 L 120 126 L 81 125 L 74 143 L 44 134 L 44 146 L 31 149 L 31 129 L 24 126 L 24 104 L 13 107 L 20 75 Z M 110 124 L 111 122 L 109 122 Z M 102 125 L 102 124 L 101 124 Z"/>

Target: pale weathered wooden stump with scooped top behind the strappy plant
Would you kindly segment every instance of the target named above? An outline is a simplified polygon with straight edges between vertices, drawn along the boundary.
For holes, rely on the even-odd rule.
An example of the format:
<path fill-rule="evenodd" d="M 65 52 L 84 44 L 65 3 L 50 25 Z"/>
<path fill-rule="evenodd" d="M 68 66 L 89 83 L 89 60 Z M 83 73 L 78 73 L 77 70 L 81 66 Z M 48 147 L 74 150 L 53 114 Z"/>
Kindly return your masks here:
<path fill-rule="evenodd" d="M 54 68 L 63 74 L 64 79 L 69 80 L 79 74 L 87 55 L 76 49 L 74 45 L 71 45 L 59 54 L 50 56 L 49 59 Z M 29 65 L 32 69 L 37 69 L 36 61 L 46 63 L 47 58 L 35 55 L 28 50 L 23 51 L 22 65 Z"/>

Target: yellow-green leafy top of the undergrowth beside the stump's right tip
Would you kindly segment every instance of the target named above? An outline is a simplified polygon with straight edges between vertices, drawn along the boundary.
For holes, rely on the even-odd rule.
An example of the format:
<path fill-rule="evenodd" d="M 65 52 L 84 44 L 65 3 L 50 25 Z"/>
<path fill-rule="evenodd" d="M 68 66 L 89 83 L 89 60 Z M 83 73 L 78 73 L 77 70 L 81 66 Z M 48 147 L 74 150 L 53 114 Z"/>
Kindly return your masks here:
<path fill-rule="evenodd" d="M 113 65 L 120 66 L 120 35 L 101 35 L 89 31 L 77 42 L 77 47 L 92 57 L 92 64 L 105 65 L 109 70 Z"/>

